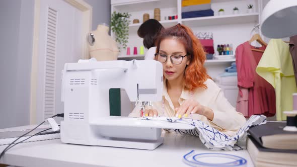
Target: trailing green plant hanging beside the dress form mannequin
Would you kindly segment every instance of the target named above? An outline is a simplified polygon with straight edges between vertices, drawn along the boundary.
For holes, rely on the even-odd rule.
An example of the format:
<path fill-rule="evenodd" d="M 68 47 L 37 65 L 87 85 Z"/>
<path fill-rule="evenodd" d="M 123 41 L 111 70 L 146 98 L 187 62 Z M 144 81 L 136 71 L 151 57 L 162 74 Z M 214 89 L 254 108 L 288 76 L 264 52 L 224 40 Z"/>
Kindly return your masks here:
<path fill-rule="evenodd" d="M 110 27 L 115 35 L 119 49 L 126 49 L 129 39 L 129 18 L 128 13 L 113 12 L 111 15 Z"/>

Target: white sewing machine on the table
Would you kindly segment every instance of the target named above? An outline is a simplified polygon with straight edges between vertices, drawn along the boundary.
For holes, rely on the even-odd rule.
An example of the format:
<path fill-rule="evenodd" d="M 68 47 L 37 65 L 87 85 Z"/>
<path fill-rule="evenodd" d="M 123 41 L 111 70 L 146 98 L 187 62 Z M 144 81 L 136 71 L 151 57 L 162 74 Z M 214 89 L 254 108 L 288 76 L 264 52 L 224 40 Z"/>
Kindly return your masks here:
<path fill-rule="evenodd" d="M 161 101 L 162 64 L 155 60 L 66 63 L 62 76 L 64 143 L 155 149 L 162 128 L 193 129 L 166 121 L 110 116 L 109 89 L 125 89 L 130 101 Z"/>

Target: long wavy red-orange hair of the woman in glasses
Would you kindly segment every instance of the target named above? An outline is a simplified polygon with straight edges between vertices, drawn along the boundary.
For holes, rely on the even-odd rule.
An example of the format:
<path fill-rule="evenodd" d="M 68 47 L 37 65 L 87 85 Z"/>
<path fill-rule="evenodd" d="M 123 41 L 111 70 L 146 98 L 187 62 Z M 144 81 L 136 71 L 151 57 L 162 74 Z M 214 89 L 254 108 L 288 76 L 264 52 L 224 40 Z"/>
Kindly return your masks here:
<path fill-rule="evenodd" d="M 190 28 L 177 24 L 161 31 L 156 42 L 157 53 L 160 50 L 161 41 L 170 37 L 176 37 L 183 43 L 190 60 L 185 70 L 185 88 L 188 90 L 194 90 L 196 88 L 206 89 L 207 87 L 204 82 L 210 77 L 203 66 L 206 56 L 199 39 L 193 34 Z"/>

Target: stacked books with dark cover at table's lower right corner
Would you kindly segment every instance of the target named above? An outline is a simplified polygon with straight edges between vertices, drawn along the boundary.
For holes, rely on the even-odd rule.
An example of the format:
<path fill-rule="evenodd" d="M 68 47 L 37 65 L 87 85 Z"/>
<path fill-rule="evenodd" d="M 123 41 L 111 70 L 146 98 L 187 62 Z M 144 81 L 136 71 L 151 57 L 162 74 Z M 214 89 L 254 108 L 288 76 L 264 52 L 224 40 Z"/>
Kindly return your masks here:
<path fill-rule="evenodd" d="M 285 122 L 250 128 L 247 149 L 255 166 L 297 166 L 297 132 L 283 131 Z"/>

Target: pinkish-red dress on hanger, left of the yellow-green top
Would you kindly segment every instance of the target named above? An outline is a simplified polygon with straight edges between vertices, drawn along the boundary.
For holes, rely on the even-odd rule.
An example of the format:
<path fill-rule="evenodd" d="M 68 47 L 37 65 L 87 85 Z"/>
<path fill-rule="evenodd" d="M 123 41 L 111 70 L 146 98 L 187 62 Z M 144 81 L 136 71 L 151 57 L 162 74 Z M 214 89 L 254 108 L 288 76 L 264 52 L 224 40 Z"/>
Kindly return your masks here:
<path fill-rule="evenodd" d="M 245 42 L 236 48 L 236 66 L 239 94 L 236 109 L 245 117 L 263 114 L 275 115 L 275 91 L 273 87 L 256 73 L 256 67 L 263 52 L 252 51 L 254 48 Z M 260 50 L 265 50 L 262 46 Z"/>

